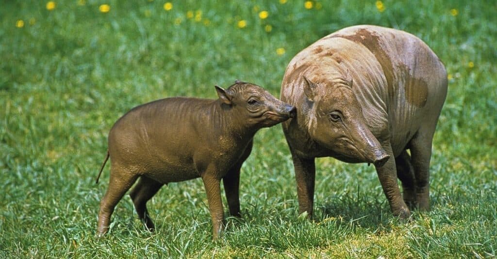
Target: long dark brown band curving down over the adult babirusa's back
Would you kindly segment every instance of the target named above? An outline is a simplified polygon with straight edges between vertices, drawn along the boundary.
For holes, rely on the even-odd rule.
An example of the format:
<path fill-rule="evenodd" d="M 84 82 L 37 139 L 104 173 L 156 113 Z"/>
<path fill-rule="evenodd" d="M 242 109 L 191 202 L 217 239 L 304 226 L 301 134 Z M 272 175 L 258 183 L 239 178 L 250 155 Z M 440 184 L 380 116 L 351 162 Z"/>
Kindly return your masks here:
<path fill-rule="evenodd" d="M 367 29 L 359 29 L 353 35 L 332 35 L 329 38 L 344 38 L 356 43 L 364 45 L 373 55 L 376 57 L 378 62 L 383 69 L 385 78 L 387 79 L 388 92 L 390 97 L 393 97 L 394 87 L 393 87 L 393 66 L 392 61 L 388 57 L 387 53 L 380 46 L 380 37 L 374 32 L 368 31 Z"/>

